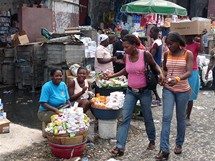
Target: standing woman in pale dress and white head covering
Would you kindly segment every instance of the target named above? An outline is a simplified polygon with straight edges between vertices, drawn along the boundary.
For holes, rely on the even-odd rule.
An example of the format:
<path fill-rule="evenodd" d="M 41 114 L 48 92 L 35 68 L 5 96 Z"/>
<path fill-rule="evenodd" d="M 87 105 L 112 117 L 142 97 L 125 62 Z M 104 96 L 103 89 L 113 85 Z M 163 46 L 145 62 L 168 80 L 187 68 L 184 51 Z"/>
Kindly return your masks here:
<path fill-rule="evenodd" d="M 101 73 L 109 70 L 113 72 L 113 62 L 116 61 L 116 57 L 111 57 L 107 46 L 109 45 L 108 36 L 105 34 L 99 35 L 100 44 L 96 49 L 95 56 L 95 71 L 96 73 Z"/>

